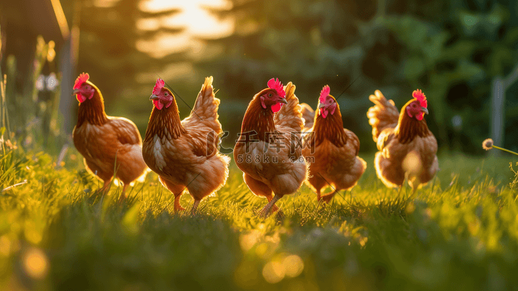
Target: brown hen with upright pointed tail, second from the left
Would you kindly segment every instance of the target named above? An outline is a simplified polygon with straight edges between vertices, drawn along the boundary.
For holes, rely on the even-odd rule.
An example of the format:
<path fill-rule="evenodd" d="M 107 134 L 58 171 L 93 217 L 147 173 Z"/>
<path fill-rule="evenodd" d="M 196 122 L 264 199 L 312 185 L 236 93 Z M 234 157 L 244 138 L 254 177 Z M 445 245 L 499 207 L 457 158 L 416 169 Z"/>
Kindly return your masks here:
<path fill-rule="evenodd" d="M 175 196 L 177 212 L 184 209 L 180 205 L 184 189 L 194 199 L 194 214 L 200 200 L 218 191 L 229 176 L 230 158 L 218 151 L 220 100 L 214 96 L 212 81 L 205 78 L 191 115 L 182 121 L 175 96 L 162 79 L 157 79 L 149 97 L 154 106 L 144 137 L 144 160 Z"/>

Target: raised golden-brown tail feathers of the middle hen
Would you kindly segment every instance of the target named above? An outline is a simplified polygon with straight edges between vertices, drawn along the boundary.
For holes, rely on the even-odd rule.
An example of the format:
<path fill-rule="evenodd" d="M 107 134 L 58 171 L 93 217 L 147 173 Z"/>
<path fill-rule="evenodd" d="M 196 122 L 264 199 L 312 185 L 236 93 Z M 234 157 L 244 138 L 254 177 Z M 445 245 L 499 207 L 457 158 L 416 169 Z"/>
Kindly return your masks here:
<path fill-rule="evenodd" d="M 302 118 L 302 109 L 298 104 L 298 98 L 295 95 L 295 85 L 289 82 L 285 86 L 286 101 L 278 113 L 274 116 L 274 123 L 276 126 L 287 126 L 295 131 L 302 131 L 304 127 L 304 120 Z"/>

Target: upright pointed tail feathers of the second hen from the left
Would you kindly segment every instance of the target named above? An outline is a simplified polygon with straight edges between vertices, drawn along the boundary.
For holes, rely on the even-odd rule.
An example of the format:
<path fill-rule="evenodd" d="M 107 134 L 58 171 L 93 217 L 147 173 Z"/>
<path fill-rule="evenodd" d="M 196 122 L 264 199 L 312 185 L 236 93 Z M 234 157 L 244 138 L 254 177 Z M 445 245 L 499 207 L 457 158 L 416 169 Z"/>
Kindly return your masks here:
<path fill-rule="evenodd" d="M 204 124 L 216 133 L 222 133 L 221 124 L 218 120 L 218 108 L 220 100 L 215 97 L 214 88 L 212 86 L 213 77 L 206 77 L 202 85 L 200 93 L 194 103 L 191 115 L 182 121 L 184 126 L 189 127 L 192 124 Z"/>

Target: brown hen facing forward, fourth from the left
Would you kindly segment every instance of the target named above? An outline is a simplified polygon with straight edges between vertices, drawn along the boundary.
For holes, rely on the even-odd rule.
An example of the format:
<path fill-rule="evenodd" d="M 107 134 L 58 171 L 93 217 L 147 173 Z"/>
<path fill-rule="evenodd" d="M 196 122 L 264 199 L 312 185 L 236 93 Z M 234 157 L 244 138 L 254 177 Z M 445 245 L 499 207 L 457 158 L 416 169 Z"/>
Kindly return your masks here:
<path fill-rule="evenodd" d="M 325 86 L 318 98 L 318 111 L 311 128 L 305 127 L 303 156 L 309 163 L 309 178 L 306 183 L 316 192 L 317 199 L 329 200 L 342 189 L 352 189 L 367 168 L 367 163 L 358 157 L 360 140 L 356 134 L 343 128 L 342 115 L 338 102 Z M 305 118 L 315 112 L 305 104 Z M 325 186 L 332 191 L 320 194 Z"/>

